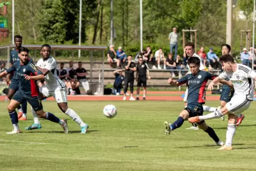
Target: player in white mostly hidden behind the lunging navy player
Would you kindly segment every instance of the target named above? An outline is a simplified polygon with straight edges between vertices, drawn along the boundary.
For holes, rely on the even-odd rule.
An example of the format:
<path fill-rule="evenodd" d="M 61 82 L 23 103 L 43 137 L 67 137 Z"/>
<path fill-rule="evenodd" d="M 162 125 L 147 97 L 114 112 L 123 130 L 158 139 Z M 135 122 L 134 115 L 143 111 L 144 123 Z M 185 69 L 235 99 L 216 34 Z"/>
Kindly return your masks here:
<path fill-rule="evenodd" d="M 205 71 L 206 69 L 204 68 L 204 65 L 203 65 L 203 62 L 202 62 L 202 59 L 200 58 L 200 56 L 198 56 L 197 54 L 195 54 L 195 45 L 193 44 L 193 42 L 187 42 L 186 45 L 185 45 L 185 53 L 186 53 L 186 56 L 188 58 L 190 57 L 198 57 L 201 61 L 200 63 L 200 67 L 199 67 L 199 70 L 202 70 L 202 71 Z M 191 71 L 190 71 L 190 67 L 189 67 L 189 64 L 187 64 L 187 68 L 189 69 L 189 72 L 187 72 L 187 74 L 191 74 Z M 187 93 L 188 93 L 188 89 L 186 88 L 186 91 L 185 91 L 185 96 L 184 96 L 184 107 L 186 108 L 187 106 Z M 204 95 L 205 96 L 205 95 Z M 192 124 L 191 127 L 187 128 L 187 130 L 199 130 L 197 124 Z"/>

